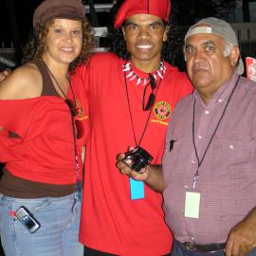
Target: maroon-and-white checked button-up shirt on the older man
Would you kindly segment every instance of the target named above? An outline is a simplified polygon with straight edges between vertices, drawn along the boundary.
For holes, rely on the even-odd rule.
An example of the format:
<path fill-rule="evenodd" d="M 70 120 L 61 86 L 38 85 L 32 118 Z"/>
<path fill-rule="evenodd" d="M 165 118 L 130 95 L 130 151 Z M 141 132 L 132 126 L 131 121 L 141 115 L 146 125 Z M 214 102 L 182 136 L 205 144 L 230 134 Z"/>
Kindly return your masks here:
<path fill-rule="evenodd" d="M 233 74 L 206 105 L 198 93 L 175 107 L 163 157 L 165 219 L 180 242 L 223 243 L 229 230 L 256 206 L 256 83 Z M 221 120 L 199 168 L 210 137 Z M 172 145 L 173 144 L 173 145 Z M 186 192 L 200 192 L 199 218 L 184 216 Z"/>

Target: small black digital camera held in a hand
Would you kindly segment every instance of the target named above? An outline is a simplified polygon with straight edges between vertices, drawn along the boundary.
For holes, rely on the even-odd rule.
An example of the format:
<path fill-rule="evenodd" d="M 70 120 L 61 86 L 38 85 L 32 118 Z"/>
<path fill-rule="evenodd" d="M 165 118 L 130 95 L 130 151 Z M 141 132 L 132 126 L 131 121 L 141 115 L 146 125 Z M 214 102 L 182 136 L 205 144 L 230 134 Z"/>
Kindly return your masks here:
<path fill-rule="evenodd" d="M 128 159 L 132 160 L 132 165 L 130 168 L 136 172 L 139 172 L 142 168 L 145 168 L 151 163 L 153 156 L 150 155 L 146 150 L 137 146 L 135 149 L 125 153 L 123 160 L 125 161 Z"/>

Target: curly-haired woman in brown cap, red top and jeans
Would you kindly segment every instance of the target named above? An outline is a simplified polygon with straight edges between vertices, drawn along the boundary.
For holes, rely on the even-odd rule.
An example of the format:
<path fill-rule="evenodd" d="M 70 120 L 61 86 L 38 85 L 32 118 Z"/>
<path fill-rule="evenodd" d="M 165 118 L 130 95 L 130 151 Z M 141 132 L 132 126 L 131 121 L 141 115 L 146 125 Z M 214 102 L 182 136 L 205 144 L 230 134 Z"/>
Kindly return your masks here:
<path fill-rule="evenodd" d="M 6 256 L 82 256 L 88 116 L 68 74 L 87 61 L 91 29 L 79 0 L 45 0 L 33 27 L 25 64 L 0 83 L 0 236 Z"/>

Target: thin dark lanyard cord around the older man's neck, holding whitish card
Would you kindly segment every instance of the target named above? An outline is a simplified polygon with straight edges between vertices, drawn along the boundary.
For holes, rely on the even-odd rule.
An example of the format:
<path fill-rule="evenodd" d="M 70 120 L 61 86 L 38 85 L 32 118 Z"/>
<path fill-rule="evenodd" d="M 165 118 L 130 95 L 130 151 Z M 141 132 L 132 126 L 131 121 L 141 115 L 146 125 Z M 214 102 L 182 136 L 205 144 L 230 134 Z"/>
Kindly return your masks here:
<path fill-rule="evenodd" d="M 219 125 L 220 125 L 220 123 L 221 123 L 221 121 L 222 121 L 222 119 L 223 119 L 223 117 L 224 117 L 224 114 L 226 113 L 226 110 L 227 110 L 228 105 L 229 105 L 229 101 L 230 101 L 231 98 L 232 98 L 233 92 L 234 92 L 234 90 L 235 90 L 235 88 L 236 88 L 236 86 L 237 86 L 237 84 L 238 84 L 239 79 L 240 79 L 240 77 L 238 77 L 237 81 L 235 82 L 235 85 L 234 85 L 234 87 L 233 87 L 233 89 L 232 89 L 232 91 L 231 91 L 231 94 L 230 94 L 230 96 L 229 96 L 229 100 L 227 101 L 226 106 L 225 106 L 225 108 L 224 108 L 224 110 L 223 110 L 223 112 L 222 112 L 222 115 L 221 115 L 221 117 L 220 117 L 220 119 L 219 119 L 219 121 L 218 121 L 218 123 L 217 123 L 217 125 L 216 125 L 216 127 L 215 127 L 215 129 L 214 129 L 214 131 L 213 131 L 213 134 L 212 134 L 211 137 L 210 137 L 210 140 L 209 140 L 209 142 L 208 142 L 207 148 L 206 148 L 206 150 L 205 150 L 205 152 L 204 152 L 204 154 L 203 154 L 201 160 L 199 159 L 199 156 L 198 156 L 197 150 L 196 150 L 196 146 L 195 146 L 195 138 L 194 138 L 194 137 L 195 137 L 195 136 L 194 136 L 194 134 L 195 134 L 195 133 L 194 133 L 195 99 L 193 100 L 193 110 L 192 110 L 192 144 L 193 144 L 193 149 L 194 149 L 195 156 L 196 156 L 196 159 L 197 159 L 197 171 L 196 171 L 196 173 L 194 174 L 194 177 L 193 177 L 193 189 L 195 188 L 196 181 L 197 181 L 197 179 L 198 179 L 198 177 L 199 177 L 199 168 L 200 168 L 200 166 L 202 165 L 203 160 L 205 159 L 205 156 L 206 156 L 206 154 L 207 154 L 207 152 L 208 152 L 208 150 L 209 150 L 211 141 L 212 141 L 214 135 L 216 134 L 216 132 L 217 132 L 217 130 L 218 130 L 218 127 L 219 127 Z"/>

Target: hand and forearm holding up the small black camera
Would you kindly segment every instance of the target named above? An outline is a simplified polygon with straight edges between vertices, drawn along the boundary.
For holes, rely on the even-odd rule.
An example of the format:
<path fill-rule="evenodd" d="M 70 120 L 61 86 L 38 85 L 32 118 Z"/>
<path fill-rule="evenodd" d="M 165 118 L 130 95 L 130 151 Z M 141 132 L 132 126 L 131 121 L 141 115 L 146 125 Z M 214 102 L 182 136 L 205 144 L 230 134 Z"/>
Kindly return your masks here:
<path fill-rule="evenodd" d="M 117 167 L 121 174 L 128 175 L 135 180 L 144 181 L 155 192 L 164 191 L 166 186 L 163 182 L 161 165 L 148 165 L 139 172 L 135 172 L 129 168 L 131 160 L 125 160 L 126 164 L 123 162 L 124 156 L 124 154 L 118 155 Z"/>

